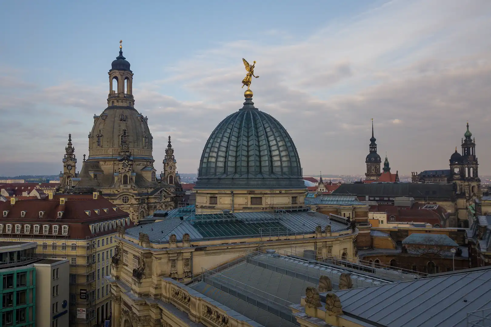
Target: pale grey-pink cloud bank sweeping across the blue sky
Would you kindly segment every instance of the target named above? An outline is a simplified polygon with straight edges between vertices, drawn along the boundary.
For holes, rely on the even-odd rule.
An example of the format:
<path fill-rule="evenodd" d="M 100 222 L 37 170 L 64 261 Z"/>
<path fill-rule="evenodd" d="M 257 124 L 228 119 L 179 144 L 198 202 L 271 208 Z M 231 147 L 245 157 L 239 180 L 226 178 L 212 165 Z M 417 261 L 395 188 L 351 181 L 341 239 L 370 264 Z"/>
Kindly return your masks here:
<path fill-rule="evenodd" d="M 164 79 L 135 81 L 136 108 L 149 118 L 156 162 L 171 135 L 179 171 L 195 172 L 208 136 L 242 106 L 245 57 L 257 61 L 261 76 L 251 85 L 256 107 L 288 130 L 305 174 L 362 174 L 370 118 L 380 153 L 387 151 L 400 174 L 447 168 L 467 119 L 480 162 L 489 162 L 490 9 L 490 1 L 395 0 L 281 44 L 271 41 L 274 30 L 259 41 L 252 35 L 218 43 L 162 67 Z M 6 85 L 0 112 L 17 124 L 7 129 L 19 140 L 15 149 L 0 145 L 0 151 L 8 147 L 17 161 L 34 155 L 60 166 L 66 139 L 28 142 L 33 132 L 58 130 L 73 132 L 77 151 L 86 152 L 91 114 L 105 107 L 107 85 L 72 80 L 36 89 L 19 76 L 13 71 L 0 79 Z M 179 94 L 167 93 L 168 86 Z M 26 113 L 45 124 L 27 124 Z M 489 165 L 480 172 L 491 174 Z"/>

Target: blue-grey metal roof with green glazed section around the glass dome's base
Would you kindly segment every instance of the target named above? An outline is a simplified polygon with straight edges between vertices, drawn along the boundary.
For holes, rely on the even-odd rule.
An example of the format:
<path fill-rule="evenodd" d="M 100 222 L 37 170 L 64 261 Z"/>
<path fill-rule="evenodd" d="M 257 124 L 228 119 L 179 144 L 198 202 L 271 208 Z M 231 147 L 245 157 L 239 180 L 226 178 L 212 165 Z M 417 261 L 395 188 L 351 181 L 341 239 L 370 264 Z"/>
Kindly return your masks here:
<path fill-rule="evenodd" d="M 348 224 L 330 220 L 329 216 L 309 211 L 308 208 L 298 211 L 275 210 L 217 214 L 196 214 L 192 209 L 187 215 L 183 215 L 182 211 L 169 213 L 160 222 L 140 224 L 126 229 L 126 233 L 136 238 L 139 233 L 145 233 L 151 242 L 166 243 L 172 234 L 176 235 L 178 241 L 182 240 L 185 233 L 190 235 L 191 240 L 295 235 L 314 233 L 317 226 L 324 229 L 327 225 L 331 226 L 332 232 L 350 228 Z"/>

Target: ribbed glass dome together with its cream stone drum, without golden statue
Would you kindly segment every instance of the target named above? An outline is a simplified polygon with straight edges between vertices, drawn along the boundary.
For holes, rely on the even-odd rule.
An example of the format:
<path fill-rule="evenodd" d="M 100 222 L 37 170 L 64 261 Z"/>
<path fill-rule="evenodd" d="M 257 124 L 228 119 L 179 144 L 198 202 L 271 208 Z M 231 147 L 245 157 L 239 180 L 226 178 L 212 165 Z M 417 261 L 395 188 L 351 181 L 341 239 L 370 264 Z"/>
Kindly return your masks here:
<path fill-rule="evenodd" d="M 222 120 L 206 141 L 199 162 L 196 212 L 261 211 L 302 207 L 305 185 L 297 148 L 286 129 L 254 107 Z"/>

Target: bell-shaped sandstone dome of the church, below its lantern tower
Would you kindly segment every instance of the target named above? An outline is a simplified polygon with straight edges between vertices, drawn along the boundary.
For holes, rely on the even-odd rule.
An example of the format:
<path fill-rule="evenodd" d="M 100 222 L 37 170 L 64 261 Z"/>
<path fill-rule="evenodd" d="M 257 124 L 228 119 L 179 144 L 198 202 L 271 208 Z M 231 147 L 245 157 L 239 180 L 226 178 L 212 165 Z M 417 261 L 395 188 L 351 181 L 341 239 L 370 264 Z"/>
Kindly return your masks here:
<path fill-rule="evenodd" d="M 134 157 L 152 158 L 152 135 L 147 118 L 130 106 L 108 106 L 100 116 L 94 116 L 94 126 L 89 134 L 89 159 L 103 154 L 105 158 L 117 158 L 121 136 L 126 130 L 126 142 Z"/>

